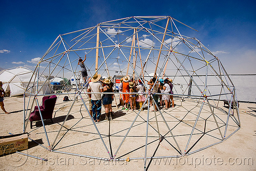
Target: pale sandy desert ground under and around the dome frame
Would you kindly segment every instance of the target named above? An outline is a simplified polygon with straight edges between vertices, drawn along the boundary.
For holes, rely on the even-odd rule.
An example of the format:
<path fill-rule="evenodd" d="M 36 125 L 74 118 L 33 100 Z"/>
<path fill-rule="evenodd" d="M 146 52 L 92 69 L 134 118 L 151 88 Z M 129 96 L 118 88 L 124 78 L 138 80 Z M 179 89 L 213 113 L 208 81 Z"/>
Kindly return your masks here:
<path fill-rule="evenodd" d="M 88 105 L 85 95 L 83 99 Z M 118 97 L 117 97 L 118 98 Z M 73 99 L 73 96 L 70 96 Z M 26 97 L 26 108 L 31 109 L 31 101 Z M 40 102 L 41 97 L 38 97 Z M 114 116 L 113 120 L 104 120 L 104 108 L 102 108 L 102 120 L 95 125 L 93 124 L 87 110 L 84 108 L 81 100 L 63 102 L 63 95 L 59 96 L 53 112 L 53 122 L 45 120 L 45 128 L 49 139 L 49 144 L 53 151 L 47 150 L 49 144 L 44 132 L 41 121 L 33 122 L 32 129 L 30 122 L 26 121 L 26 132 L 29 137 L 41 145 L 29 140 L 29 148 L 22 153 L 47 159 L 42 161 L 33 157 L 23 156 L 17 153 L 2 155 L 0 157 L 0 170 L 143 170 L 145 156 L 146 141 L 146 120 L 147 110 L 136 118 L 139 110 L 125 111 L 116 108 L 113 102 Z M 7 115 L 0 111 L 0 135 L 6 136 L 8 133 L 23 133 L 24 125 L 24 97 L 6 97 L 4 100 L 5 108 L 11 114 Z M 73 108 L 71 106 L 73 104 Z M 236 126 L 234 120 L 229 119 L 227 136 L 236 131 L 221 143 L 218 129 L 214 129 L 216 124 L 212 124 L 209 111 L 202 111 L 195 132 L 187 149 L 191 148 L 190 155 L 179 156 L 177 149 L 181 148 L 182 152 L 186 148 L 187 139 L 196 119 L 193 110 L 200 109 L 200 106 L 194 108 L 196 103 L 193 100 L 181 101 L 175 99 L 175 108 L 162 110 L 164 118 L 172 129 L 172 133 L 176 137 L 179 147 L 174 138 L 168 133 L 168 127 L 165 126 L 163 117 L 156 113 L 158 123 L 156 124 L 156 115 L 149 112 L 148 117 L 148 135 L 147 135 L 147 157 L 157 156 L 173 156 L 172 158 L 148 158 L 146 160 L 147 170 L 256 170 L 256 104 L 240 102 L 239 114 L 241 119 L 241 128 Z M 222 109 L 228 111 L 223 106 L 223 102 L 219 104 Z M 189 111 L 189 115 L 184 115 L 184 108 Z M 150 111 L 153 109 L 151 106 Z M 32 109 L 33 110 L 33 109 Z M 70 111 L 70 113 L 69 113 Z M 218 113 L 219 111 L 216 110 Z M 67 121 L 65 120 L 67 114 Z M 191 113 L 191 115 L 190 115 Z M 196 112 L 195 112 L 196 113 Z M 219 113 L 219 119 L 226 121 L 227 116 Z M 205 121 L 205 117 L 209 116 L 209 121 Z M 181 122 L 181 118 L 183 121 Z M 124 135 L 131 127 L 131 131 L 127 134 L 123 144 L 118 149 Z M 220 130 L 224 132 L 225 125 L 218 120 Z M 206 125 L 206 126 L 205 126 Z M 62 126 L 62 128 L 61 128 Z M 160 130 L 159 132 L 157 130 Z M 207 132 L 202 136 L 202 132 Z M 101 134 L 101 137 L 98 135 Z M 59 133 L 59 134 L 58 134 Z M 160 133 L 160 134 L 158 134 Z M 165 140 L 159 143 L 158 136 L 165 136 Z M 202 138 L 201 138 L 202 136 Z M 101 139 L 102 138 L 102 139 Z M 198 142 L 197 140 L 200 139 Z M 104 142 L 104 143 L 103 143 Z M 216 145 L 210 145 L 217 143 Z M 193 146 L 194 144 L 194 146 Z M 203 147 L 209 147 L 200 150 Z M 48 148 L 49 149 L 49 148 Z M 118 152 L 117 152 L 118 151 Z M 66 154 L 65 154 L 66 153 Z M 75 156 L 70 154 L 79 154 Z M 119 160 L 110 159 L 110 156 L 116 155 Z M 89 157 L 86 157 L 89 156 Z M 102 158 L 102 160 L 99 160 Z M 126 161 L 125 159 L 131 160 Z"/>

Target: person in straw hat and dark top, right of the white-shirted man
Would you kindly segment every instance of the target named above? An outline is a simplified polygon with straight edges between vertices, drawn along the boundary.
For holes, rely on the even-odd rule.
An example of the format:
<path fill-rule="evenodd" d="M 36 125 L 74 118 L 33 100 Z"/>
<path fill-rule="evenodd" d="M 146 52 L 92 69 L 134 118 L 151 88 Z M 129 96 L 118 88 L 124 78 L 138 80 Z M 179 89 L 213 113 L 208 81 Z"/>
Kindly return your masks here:
<path fill-rule="evenodd" d="M 113 93 L 113 87 L 111 86 L 111 81 L 108 78 L 105 78 L 104 80 L 105 86 L 103 87 L 104 93 Z M 113 94 L 103 94 L 103 102 L 102 104 L 105 106 L 105 119 L 111 120 L 113 116 L 112 112 L 112 96 Z"/>

